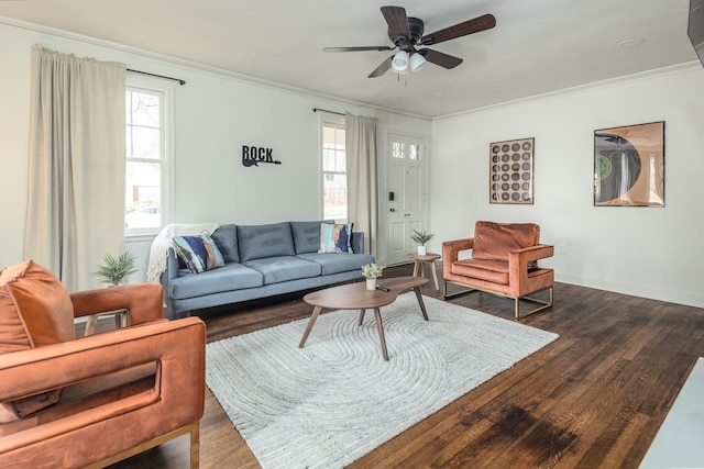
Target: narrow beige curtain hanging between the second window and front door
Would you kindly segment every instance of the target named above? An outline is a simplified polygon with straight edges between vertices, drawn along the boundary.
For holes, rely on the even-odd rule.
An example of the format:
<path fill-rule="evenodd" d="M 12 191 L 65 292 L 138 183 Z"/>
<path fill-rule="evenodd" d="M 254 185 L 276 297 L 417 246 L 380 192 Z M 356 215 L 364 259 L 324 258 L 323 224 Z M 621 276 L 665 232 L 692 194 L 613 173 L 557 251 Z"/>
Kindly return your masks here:
<path fill-rule="evenodd" d="M 378 182 L 376 177 L 376 119 L 344 115 L 348 169 L 348 220 L 365 233 L 364 252 L 377 254 Z"/>

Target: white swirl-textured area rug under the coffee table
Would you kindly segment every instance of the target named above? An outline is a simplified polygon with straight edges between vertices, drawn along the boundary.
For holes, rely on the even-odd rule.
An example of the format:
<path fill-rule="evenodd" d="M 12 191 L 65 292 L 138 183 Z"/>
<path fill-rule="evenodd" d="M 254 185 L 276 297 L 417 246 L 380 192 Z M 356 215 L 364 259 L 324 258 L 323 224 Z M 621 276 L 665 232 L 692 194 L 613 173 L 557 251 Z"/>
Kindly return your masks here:
<path fill-rule="evenodd" d="M 558 335 L 414 293 L 208 344 L 208 387 L 268 468 L 339 468 L 550 344 Z M 312 310 L 312 308 L 311 308 Z"/>

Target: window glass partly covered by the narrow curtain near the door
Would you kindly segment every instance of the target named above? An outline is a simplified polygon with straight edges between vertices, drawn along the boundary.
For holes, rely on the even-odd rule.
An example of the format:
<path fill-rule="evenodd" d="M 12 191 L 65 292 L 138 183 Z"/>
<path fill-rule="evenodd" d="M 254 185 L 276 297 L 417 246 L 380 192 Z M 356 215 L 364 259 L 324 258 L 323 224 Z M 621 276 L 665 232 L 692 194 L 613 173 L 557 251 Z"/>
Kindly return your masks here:
<path fill-rule="evenodd" d="M 348 219 L 348 174 L 344 125 L 322 124 L 322 216 L 345 222 Z"/>

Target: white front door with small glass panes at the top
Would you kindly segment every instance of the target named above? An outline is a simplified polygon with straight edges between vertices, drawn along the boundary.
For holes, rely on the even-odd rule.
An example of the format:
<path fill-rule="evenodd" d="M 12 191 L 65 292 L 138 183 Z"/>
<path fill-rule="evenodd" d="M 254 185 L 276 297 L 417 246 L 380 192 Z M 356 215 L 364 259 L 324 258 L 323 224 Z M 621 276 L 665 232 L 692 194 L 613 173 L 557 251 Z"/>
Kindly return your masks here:
<path fill-rule="evenodd" d="M 389 134 L 388 193 L 388 265 L 407 263 L 416 250 L 410 241 L 414 230 L 427 231 L 428 192 L 426 141 Z"/>

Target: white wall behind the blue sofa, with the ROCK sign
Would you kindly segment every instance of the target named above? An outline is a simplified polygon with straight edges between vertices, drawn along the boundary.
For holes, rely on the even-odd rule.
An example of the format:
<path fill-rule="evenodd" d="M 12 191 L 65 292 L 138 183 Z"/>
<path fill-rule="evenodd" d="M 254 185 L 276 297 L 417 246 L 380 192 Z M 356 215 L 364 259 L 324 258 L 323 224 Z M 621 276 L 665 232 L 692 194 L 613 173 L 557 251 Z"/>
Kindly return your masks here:
<path fill-rule="evenodd" d="M 227 76 L 196 64 L 26 26 L 0 23 L 2 267 L 23 260 L 30 47 L 34 43 L 66 54 L 123 62 L 128 68 L 187 81 L 186 86 L 174 87 L 174 222 L 178 223 L 257 224 L 320 219 L 321 116 L 312 108 L 377 118 L 380 148 L 385 147 L 388 132 L 430 136 L 429 120 L 318 98 Z M 273 148 L 282 165 L 245 168 L 241 164 L 242 145 Z M 130 281 L 145 278 L 150 244 L 151 238 L 130 243 L 130 248 L 140 255 L 142 267 Z"/>

